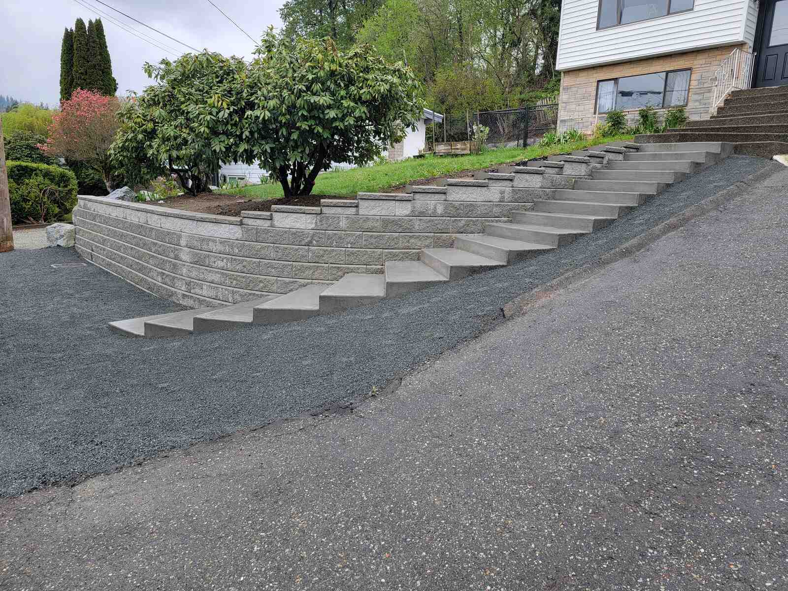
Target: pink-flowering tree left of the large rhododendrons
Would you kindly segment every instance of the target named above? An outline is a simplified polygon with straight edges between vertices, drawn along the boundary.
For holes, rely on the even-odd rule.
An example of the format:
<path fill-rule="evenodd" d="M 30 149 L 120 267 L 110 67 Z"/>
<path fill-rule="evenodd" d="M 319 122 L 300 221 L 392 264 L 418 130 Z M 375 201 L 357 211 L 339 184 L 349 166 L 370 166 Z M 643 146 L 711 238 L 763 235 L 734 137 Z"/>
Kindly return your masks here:
<path fill-rule="evenodd" d="M 50 156 L 84 162 L 101 174 L 107 191 L 112 191 L 110 145 L 120 106 L 117 97 L 76 89 L 71 99 L 61 102 L 60 113 L 49 126 L 49 139 L 39 148 Z"/>

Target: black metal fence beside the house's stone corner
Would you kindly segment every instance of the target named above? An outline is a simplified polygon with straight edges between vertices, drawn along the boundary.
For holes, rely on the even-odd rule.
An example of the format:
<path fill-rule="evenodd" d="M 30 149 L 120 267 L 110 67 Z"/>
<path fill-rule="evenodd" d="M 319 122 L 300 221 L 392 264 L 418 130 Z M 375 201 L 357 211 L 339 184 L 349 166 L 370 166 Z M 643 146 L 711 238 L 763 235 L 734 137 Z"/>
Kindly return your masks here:
<path fill-rule="evenodd" d="M 522 106 L 517 109 L 481 111 L 474 123 L 489 128 L 491 147 L 528 146 L 558 125 L 558 105 Z"/>

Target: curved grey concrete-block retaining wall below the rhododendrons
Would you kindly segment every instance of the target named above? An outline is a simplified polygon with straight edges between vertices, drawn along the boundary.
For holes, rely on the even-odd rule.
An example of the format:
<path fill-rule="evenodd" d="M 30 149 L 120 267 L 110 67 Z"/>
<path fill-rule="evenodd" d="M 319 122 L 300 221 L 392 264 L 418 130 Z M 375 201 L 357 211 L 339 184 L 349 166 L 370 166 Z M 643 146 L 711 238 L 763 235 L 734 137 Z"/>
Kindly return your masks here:
<path fill-rule="evenodd" d="M 80 195 L 76 249 L 158 296 L 215 306 L 330 284 L 345 273 L 383 273 L 387 261 L 418 260 L 422 248 L 451 247 L 458 233 L 508 221 L 523 207 L 507 202 L 513 195 L 533 201 L 544 193 L 478 181 L 447 191 L 323 199 L 321 207 L 273 206 L 242 217 Z"/>

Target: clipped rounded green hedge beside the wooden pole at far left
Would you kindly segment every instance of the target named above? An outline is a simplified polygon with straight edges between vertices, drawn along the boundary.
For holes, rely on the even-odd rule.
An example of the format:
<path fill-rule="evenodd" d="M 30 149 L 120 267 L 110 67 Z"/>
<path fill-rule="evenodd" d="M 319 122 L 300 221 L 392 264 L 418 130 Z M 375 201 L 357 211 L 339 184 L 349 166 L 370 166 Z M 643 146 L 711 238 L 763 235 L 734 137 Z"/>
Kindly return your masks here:
<path fill-rule="evenodd" d="M 69 169 L 31 162 L 8 162 L 11 221 L 58 221 L 76 205 L 76 177 Z"/>

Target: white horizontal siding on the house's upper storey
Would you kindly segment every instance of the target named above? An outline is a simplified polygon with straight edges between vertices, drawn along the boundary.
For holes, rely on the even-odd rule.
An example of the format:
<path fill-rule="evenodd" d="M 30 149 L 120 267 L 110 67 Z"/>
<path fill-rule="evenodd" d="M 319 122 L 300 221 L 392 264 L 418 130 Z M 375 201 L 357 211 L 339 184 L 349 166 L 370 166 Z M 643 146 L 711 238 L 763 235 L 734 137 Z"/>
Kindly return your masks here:
<path fill-rule="evenodd" d="M 686 13 L 597 31 L 599 0 L 564 0 L 558 42 L 558 69 L 614 64 L 682 51 L 747 41 L 753 0 L 695 0 Z M 755 24 L 753 22 L 754 36 Z M 749 43 L 752 43 L 749 40 Z"/>

